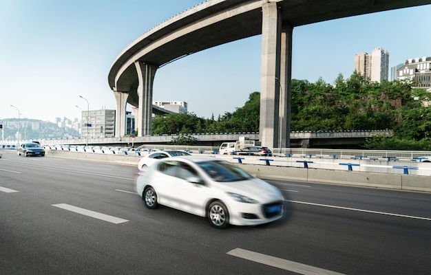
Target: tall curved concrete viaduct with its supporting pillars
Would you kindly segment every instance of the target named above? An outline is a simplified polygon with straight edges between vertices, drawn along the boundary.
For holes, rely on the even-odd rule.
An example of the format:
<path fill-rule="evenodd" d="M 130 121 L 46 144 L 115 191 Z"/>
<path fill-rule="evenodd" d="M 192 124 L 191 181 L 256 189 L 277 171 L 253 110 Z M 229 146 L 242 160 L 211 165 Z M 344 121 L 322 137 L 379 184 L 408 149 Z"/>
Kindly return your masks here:
<path fill-rule="evenodd" d="M 208 0 L 160 23 L 129 44 L 108 75 L 116 98 L 116 136 L 125 134 L 126 102 L 138 136 L 151 135 L 156 70 L 210 47 L 262 34 L 260 141 L 290 146 L 293 28 L 359 14 L 425 5 L 430 0 Z M 123 122 L 123 123 L 121 123 Z"/>

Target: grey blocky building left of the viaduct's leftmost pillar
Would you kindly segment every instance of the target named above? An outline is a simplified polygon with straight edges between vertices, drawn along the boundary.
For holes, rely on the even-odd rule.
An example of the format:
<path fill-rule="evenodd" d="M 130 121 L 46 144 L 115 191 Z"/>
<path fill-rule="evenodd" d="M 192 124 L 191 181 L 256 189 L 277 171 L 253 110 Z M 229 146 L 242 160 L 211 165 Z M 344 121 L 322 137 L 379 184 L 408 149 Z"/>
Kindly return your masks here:
<path fill-rule="evenodd" d="M 81 137 L 112 137 L 115 135 L 115 110 L 82 112 Z"/>

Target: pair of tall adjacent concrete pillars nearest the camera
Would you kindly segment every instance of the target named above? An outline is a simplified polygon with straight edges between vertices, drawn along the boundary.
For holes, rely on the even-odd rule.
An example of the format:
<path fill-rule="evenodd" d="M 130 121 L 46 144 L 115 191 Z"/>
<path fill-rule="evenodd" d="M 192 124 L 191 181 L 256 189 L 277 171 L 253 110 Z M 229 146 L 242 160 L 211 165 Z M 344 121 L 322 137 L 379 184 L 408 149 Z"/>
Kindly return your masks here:
<path fill-rule="evenodd" d="M 262 5 L 260 141 L 271 148 L 290 146 L 293 28 L 281 21 L 276 2 Z"/>

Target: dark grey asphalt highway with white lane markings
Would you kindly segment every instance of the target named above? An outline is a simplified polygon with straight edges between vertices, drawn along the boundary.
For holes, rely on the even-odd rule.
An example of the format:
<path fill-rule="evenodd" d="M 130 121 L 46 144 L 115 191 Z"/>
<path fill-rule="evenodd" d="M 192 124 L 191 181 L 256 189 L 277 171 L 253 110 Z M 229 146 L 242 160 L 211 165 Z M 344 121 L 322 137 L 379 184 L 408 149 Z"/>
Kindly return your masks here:
<path fill-rule="evenodd" d="M 431 274 L 431 194 L 271 180 L 286 217 L 145 208 L 136 166 L 0 158 L 0 274 Z"/>

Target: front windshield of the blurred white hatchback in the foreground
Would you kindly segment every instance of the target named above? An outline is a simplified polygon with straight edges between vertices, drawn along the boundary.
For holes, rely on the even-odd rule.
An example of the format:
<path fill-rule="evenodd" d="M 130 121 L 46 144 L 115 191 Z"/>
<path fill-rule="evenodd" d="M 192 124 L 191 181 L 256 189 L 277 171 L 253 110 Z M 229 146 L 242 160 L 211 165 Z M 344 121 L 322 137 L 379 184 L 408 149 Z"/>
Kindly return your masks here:
<path fill-rule="evenodd" d="M 244 170 L 229 164 L 229 162 L 211 161 L 198 162 L 197 164 L 214 181 L 242 181 L 253 178 L 253 176 L 249 175 L 249 173 L 246 173 Z"/>

